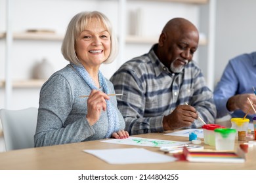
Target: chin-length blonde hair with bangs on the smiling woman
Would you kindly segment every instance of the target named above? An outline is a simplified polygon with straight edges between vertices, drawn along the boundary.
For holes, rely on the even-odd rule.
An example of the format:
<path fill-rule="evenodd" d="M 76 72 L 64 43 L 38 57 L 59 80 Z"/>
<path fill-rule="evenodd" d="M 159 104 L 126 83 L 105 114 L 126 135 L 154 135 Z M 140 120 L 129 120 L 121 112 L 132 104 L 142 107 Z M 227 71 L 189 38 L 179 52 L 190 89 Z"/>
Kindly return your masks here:
<path fill-rule="evenodd" d="M 102 14 L 102 12 L 80 12 L 79 14 L 76 14 L 72 18 L 72 20 L 70 20 L 61 46 L 61 52 L 64 58 L 74 63 L 75 65 L 81 64 L 75 54 L 75 41 L 93 18 L 98 20 L 98 22 L 101 22 L 110 34 L 110 56 L 108 57 L 108 59 L 106 59 L 106 61 L 104 61 L 104 63 L 111 63 L 112 61 L 114 61 L 114 59 L 116 59 L 118 52 L 117 37 L 112 29 L 112 24 L 110 23 L 110 20 L 108 20 L 108 18 L 104 14 Z"/>

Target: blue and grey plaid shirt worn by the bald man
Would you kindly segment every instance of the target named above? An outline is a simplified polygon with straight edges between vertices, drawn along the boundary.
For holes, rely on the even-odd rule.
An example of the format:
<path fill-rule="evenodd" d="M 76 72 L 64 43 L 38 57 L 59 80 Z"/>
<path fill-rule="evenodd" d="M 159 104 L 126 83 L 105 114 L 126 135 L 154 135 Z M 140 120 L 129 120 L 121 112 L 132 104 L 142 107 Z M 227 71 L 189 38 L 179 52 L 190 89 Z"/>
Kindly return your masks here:
<path fill-rule="evenodd" d="M 181 73 L 171 73 L 156 56 L 154 46 L 148 54 L 124 63 L 110 78 L 116 93 L 123 93 L 117 97 L 117 107 L 125 119 L 125 130 L 130 135 L 163 132 L 163 116 L 184 103 L 195 107 L 206 123 L 214 123 L 213 93 L 201 69 L 190 61 Z M 195 120 L 191 127 L 201 126 Z"/>

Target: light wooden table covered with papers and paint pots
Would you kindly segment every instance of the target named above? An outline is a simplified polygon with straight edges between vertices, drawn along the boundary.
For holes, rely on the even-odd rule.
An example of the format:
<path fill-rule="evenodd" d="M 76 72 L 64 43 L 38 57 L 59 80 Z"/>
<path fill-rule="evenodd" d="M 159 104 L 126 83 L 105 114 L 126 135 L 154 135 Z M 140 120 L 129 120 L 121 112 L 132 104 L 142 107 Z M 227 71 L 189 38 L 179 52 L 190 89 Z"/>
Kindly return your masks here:
<path fill-rule="evenodd" d="M 169 131 L 170 132 L 170 131 Z M 168 132 L 168 133 L 169 133 Z M 134 137 L 144 137 L 148 139 L 163 139 L 170 141 L 188 142 L 188 137 L 177 137 L 163 135 L 164 133 L 148 133 L 135 135 Z M 251 140 L 253 141 L 253 140 Z M 235 142 L 237 147 L 241 141 Z M 215 149 L 214 146 L 204 145 L 204 148 Z M 78 142 L 73 144 L 63 144 L 57 146 L 46 146 L 41 148 L 28 148 L 23 150 L 13 150 L 0 153 L 0 169 L 6 170 L 157 170 L 157 169 L 176 169 L 176 170 L 223 170 L 223 169 L 256 169 L 256 146 L 250 147 L 246 154 L 245 163 L 191 163 L 187 161 L 175 161 L 171 163 L 144 163 L 144 164 L 125 164 L 111 165 L 102 161 L 91 154 L 83 152 L 85 149 L 110 149 L 110 148 L 131 148 L 125 144 L 112 144 L 100 141 Z M 153 152 L 160 152 L 159 148 L 145 147 Z M 123 155 L 125 157 L 125 154 Z M 171 154 L 169 155 L 171 156 Z"/>

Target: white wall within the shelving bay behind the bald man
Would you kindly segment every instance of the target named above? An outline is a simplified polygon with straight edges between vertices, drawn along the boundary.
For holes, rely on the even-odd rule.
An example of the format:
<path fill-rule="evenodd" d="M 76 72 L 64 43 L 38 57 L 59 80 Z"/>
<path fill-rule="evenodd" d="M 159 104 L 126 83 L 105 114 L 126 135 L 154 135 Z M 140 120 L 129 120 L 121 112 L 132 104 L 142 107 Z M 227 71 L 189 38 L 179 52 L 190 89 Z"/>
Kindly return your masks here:
<path fill-rule="evenodd" d="M 128 1 L 127 2 L 127 33 L 133 26 L 130 23 L 129 12 L 140 10 L 140 31 L 146 37 L 159 37 L 163 26 L 175 17 L 182 17 L 190 20 L 199 27 L 200 6 L 182 3 L 166 3 L 163 1 Z M 156 39 L 156 42 L 158 39 Z M 124 60 L 140 56 L 149 51 L 150 44 L 127 44 L 125 47 Z"/>

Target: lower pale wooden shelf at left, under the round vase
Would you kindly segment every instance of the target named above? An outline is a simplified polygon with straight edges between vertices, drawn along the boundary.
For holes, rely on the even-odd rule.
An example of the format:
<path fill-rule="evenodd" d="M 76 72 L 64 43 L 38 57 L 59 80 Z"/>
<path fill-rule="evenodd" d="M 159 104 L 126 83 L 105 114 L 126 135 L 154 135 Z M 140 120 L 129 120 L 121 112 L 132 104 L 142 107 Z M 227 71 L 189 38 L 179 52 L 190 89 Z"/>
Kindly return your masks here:
<path fill-rule="evenodd" d="M 13 88 L 41 88 L 46 80 L 29 79 L 29 80 L 13 80 Z M 0 81 L 0 88 L 5 87 L 5 81 Z"/>

